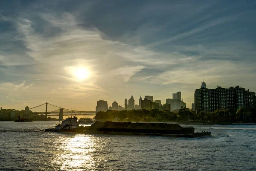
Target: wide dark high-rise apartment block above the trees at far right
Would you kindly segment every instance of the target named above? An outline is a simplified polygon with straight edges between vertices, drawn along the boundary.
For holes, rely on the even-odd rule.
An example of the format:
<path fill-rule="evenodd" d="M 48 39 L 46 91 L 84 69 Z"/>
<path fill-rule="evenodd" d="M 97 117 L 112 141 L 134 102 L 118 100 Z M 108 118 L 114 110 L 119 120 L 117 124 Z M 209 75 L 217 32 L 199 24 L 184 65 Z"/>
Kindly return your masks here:
<path fill-rule="evenodd" d="M 203 81 L 204 83 L 204 81 Z M 204 83 L 204 85 L 206 85 Z M 254 92 L 245 90 L 242 87 L 222 88 L 217 86 L 215 89 L 205 88 L 195 90 L 195 111 L 214 112 L 218 109 L 227 109 L 233 112 L 240 108 L 250 110 L 256 107 L 256 96 Z"/>

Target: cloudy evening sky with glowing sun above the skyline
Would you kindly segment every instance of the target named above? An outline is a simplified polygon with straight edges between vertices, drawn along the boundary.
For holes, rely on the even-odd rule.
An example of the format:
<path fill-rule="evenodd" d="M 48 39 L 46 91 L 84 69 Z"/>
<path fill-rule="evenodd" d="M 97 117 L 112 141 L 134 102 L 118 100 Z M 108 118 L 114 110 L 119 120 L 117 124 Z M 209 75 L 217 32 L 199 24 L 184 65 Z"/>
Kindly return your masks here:
<path fill-rule="evenodd" d="M 0 2 L 0 107 L 95 110 L 207 88 L 256 92 L 254 0 Z"/>

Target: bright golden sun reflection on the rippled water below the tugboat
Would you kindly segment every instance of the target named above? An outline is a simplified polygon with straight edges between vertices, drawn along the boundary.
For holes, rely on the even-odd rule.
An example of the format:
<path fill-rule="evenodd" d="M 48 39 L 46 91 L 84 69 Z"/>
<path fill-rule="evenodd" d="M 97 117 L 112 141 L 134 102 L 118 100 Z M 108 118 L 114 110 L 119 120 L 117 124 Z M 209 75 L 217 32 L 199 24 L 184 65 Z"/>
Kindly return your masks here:
<path fill-rule="evenodd" d="M 76 135 L 61 139 L 61 141 L 57 158 L 54 161 L 61 166 L 61 170 L 92 170 L 95 164 L 92 153 L 95 148 L 91 136 Z"/>

